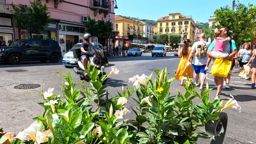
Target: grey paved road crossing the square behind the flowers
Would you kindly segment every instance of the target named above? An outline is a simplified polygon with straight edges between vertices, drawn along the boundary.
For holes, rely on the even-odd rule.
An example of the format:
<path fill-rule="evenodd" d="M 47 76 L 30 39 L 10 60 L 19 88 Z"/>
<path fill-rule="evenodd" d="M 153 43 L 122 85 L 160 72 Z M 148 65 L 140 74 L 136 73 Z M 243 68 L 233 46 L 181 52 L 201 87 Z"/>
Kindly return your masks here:
<path fill-rule="evenodd" d="M 173 53 L 168 53 L 166 57 L 152 57 L 150 53 L 143 53 L 142 57 L 110 57 L 109 66 L 115 65 L 120 73 L 112 75 L 107 81 L 110 85 L 108 92 L 110 97 L 114 97 L 117 91 L 121 90 L 122 86 L 132 87 L 129 83 L 129 77 L 136 74 L 150 75 L 154 70 L 167 67 L 170 71 L 170 77 L 174 76 L 179 58 L 173 57 Z M 6 70 L 22 69 L 26 71 L 9 73 Z M 18 133 L 20 130 L 28 127 L 37 115 L 42 115 L 43 109 L 37 103 L 42 102 L 42 98 L 38 92 L 46 91 L 49 87 L 54 87 L 55 93 L 61 93 L 61 82 L 64 81 L 60 76 L 56 76 L 57 72 L 67 74 L 71 71 L 74 81 L 80 82 L 77 75 L 72 69 L 63 67 L 62 63 L 39 63 L 28 62 L 19 65 L 0 65 L 0 128 L 5 131 L 14 131 Z M 106 68 L 110 71 L 110 68 Z M 250 81 L 238 79 L 237 69 L 235 69 L 232 79 L 231 88 L 224 89 L 220 99 L 228 100 L 229 95 L 234 95 L 235 99 L 242 107 L 241 113 L 235 109 L 229 109 L 225 112 L 229 116 L 228 131 L 224 143 L 256 143 L 256 115 L 255 115 L 255 100 L 256 89 L 251 89 Z M 153 77 L 154 79 L 154 77 Z M 207 81 L 210 87 L 214 88 L 210 92 L 211 99 L 214 98 L 216 87 L 212 81 L 211 74 L 207 74 Z M 27 90 L 14 89 L 14 86 L 22 83 L 37 83 L 39 88 L 26 93 Z M 85 84 L 89 86 L 88 83 Z M 177 90 L 184 93 L 184 88 L 179 86 L 179 81 L 174 81 L 171 85 L 172 95 L 177 94 Z M 195 101 L 196 103 L 196 101 Z M 127 107 L 133 106 L 132 101 L 129 101 Z M 129 116 L 132 117 L 132 116 Z M 199 140 L 198 143 L 210 143 L 208 140 Z"/>

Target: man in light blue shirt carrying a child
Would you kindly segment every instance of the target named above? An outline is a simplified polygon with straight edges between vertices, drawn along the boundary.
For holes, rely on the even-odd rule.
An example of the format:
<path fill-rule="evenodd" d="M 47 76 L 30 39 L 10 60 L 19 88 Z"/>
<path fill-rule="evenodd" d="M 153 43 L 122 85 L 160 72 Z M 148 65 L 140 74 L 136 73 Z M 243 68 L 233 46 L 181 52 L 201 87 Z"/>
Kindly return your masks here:
<path fill-rule="evenodd" d="M 220 28 L 220 31 L 222 31 L 222 34 L 220 34 L 219 37 L 222 38 L 227 38 L 228 35 L 228 29 L 225 27 Z M 208 51 L 207 54 L 213 58 L 213 56 L 211 55 L 211 52 L 214 49 L 214 40 L 212 41 L 211 45 L 208 47 Z M 233 57 L 236 55 L 236 44 L 234 40 L 231 40 L 231 44 L 230 43 L 225 43 L 225 52 L 229 53 L 229 56 L 226 57 L 225 59 L 228 59 L 229 61 L 233 61 Z M 224 78 L 225 77 L 218 77 L 218 76 L 214 76 L 214 82 L 217 85 L 217 92 L 216 92 L 216 97 L 215 99 L 219 99 L 219 95 L 222 92 L 222 88 L 223 88 L 223 82 L 224 82 Z M 226 81 L 226 87 L 229 87 L 229 79 L 230 79 L 230 74 L 228 74 L 227 77 L 227 81 Z"/>

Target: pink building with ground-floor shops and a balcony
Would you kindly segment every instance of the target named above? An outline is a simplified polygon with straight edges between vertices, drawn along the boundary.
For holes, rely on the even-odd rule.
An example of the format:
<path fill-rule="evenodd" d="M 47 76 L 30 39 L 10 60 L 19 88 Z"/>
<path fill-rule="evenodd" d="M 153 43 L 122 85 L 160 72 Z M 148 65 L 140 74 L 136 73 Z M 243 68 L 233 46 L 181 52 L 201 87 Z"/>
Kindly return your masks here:
<path fill-rule="evenodd" d="M 30 1 L 5 0 L 5 3 L 8 7 L 11 3 L 30 5 Z M 32 37 L 59 41 L 62 55 L 71 49 L 73 44 L 83 40 L 83 35 L 86 33 L 84 22 L 88 20 L 88 16 L 91 19 L 110 20 L 115 23 L 113 0 L 42 0 L 41 2 L 48 5 L 51 23 L 39 34 L 32 34 Z M 24 38 L 27 38 L 26 29 L 15 28 L 14 39 Z"/>

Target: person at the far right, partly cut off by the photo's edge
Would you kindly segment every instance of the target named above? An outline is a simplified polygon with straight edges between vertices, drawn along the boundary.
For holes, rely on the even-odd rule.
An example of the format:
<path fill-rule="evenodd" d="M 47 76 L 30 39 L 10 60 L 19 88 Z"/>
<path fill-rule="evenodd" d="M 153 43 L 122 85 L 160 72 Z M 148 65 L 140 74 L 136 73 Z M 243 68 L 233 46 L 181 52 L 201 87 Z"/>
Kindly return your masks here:
<path fill-rule="evenodd" d="M 251 64 L 251 68 L 252 68 L 252 88 L 255 88 L 256 86 L 256 49 L 253 50 L 252 52 L 252 56 L 249 59 L 248 63 L 246 65 Z"/>

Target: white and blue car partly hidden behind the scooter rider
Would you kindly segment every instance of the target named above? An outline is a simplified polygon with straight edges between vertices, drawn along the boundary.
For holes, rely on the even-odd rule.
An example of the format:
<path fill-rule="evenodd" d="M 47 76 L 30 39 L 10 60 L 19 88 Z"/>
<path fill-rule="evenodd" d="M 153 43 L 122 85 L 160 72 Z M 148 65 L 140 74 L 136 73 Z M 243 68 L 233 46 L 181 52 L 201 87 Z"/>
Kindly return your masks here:
<path fill-rule="evenodd" d="M 66 68 L 69 67 L 78 67 L 77 58 L 74 58 L 73 50 L 80 48 L 82 43 L 75 44 L 64 56 L 62 59 L 62 63 Z M 102 49 L 102 45 L 98 44 L 98 48 Z"/>

